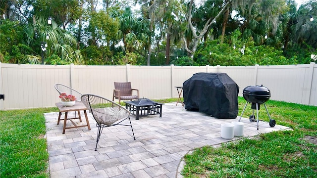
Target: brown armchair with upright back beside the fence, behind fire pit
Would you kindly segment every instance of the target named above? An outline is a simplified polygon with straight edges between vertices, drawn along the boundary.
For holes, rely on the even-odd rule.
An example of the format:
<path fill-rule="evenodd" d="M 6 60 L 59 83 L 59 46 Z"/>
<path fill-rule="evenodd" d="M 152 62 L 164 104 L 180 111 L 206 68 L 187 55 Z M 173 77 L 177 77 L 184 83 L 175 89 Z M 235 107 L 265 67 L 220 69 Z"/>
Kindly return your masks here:
<path fill-rule="evenodd" d="M 133 95 L 133 90 L 137 91 L 138 95 Z M 131 88 L 131 82 L 114 82 L 112 101 L 119 99 L 119 104 L 121 100 L 139 99 L 139 90 Z"/>

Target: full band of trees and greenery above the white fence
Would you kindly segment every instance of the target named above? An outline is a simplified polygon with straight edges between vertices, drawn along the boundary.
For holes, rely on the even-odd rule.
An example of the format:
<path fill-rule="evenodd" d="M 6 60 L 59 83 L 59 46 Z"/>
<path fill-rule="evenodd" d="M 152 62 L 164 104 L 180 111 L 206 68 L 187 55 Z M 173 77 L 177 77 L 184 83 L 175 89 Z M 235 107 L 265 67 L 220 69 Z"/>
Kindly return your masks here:
<path fill-rule="evenodd" d="M 1 0 L 0 61 L 88 65 L 315 62 L 317 0 Z M 50 23 L 48 23 L 50 21 Z"/>

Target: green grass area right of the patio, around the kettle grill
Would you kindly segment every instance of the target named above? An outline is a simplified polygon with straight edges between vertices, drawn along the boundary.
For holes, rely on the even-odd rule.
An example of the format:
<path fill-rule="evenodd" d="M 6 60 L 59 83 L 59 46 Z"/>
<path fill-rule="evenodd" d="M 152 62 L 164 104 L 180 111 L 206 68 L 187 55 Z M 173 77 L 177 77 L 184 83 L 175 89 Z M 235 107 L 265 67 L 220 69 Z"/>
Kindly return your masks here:
<path fill-rule="evenodd" d="M 239 116 L 245 103 L 239 97 Z M 317 107 L 271 100 L 266 106 L 276 124 L 293 131 L 195 149 L 184 157 L 184 178 L 317 178 Z M 249 115 L 251 104 L 243 117 Z M 263 105 L 259 118 L 269 121 Z"/>

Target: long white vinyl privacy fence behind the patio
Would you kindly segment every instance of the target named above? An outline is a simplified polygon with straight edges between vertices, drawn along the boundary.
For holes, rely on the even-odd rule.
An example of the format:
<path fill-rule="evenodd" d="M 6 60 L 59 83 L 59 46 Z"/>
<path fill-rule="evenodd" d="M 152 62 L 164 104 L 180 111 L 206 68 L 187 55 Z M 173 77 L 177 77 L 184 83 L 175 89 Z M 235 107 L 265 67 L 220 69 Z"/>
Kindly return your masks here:
<path fill-rule="evenodd" d="M 263 85 L 271 100 L 317 106 L 317 64 L 278 66 L 85 66 L 0 63 L 0 110 L 52 107 L 54 84 L 112 99 L 113 82 L 131 82 L 140 97 L 177 98 L 176 86 L 199 72 L 227 73 L 240 87 Z"/>

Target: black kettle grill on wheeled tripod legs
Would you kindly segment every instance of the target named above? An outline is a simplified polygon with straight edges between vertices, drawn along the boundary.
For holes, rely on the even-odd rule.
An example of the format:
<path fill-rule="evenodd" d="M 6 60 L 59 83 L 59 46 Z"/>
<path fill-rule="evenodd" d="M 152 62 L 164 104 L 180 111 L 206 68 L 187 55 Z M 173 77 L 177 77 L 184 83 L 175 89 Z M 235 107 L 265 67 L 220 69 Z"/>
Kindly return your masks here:
<path fill-rule="evenodd" d="M 259 130 L 259 117 L 258 117 L 258 110 L 260 109 L 261 104 L 264 104 L 266 113 L 269 117 L 269 126 L 274 127 L 275 126 L 275 120 L 271 119 L 270 115 L 268 114 L 265 102 L 271 97 L 271 92 L 269 89 L 261 86 L 248 86 L 243 89 L 243 97 L 245 100 L 247 100 L 246 105 L 244 106 L 239 122 L 242 118 L 243 112 L 246 109 L 248 103 L 251 103 L 251 109 L 253 109 L 253 114 L 249 117 L 250 122 L 256 121 L 257 118 L 257 129 Z M 254 110 L 257 110 L 257 117 L 254 115 Z"/>

